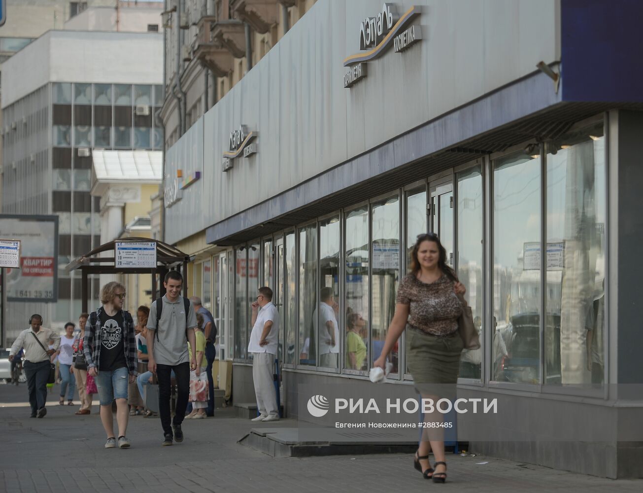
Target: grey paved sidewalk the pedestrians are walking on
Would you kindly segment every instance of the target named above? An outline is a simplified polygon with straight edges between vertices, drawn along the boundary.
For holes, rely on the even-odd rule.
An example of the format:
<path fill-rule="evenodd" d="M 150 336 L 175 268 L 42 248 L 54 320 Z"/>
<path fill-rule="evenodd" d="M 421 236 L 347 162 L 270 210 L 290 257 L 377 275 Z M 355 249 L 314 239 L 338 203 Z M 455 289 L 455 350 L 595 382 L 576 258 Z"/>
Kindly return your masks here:
<path fill-rule="evenodd" d="M 224 409 L 215 418 L 186 420 L 185 441 L 161 447 L 158 419 L 130 418 L 131 449 L 104 449 L 98 407 L 57 404 L 29 418 L 26 386 L 0 386 L 0 492 L 420 492 L 427 488 L 485 492 L 640 492 L 643 479 L 593 478 L 491 457 L 447 456 L 448 482 L 434 485 L 412 467 L 410 454 L 275 459 L 239 440 L 251 423 Z M 21 404 L 24 403 L 24 404 Z M 293 420 L 266 427 L 294 427 Z"/>

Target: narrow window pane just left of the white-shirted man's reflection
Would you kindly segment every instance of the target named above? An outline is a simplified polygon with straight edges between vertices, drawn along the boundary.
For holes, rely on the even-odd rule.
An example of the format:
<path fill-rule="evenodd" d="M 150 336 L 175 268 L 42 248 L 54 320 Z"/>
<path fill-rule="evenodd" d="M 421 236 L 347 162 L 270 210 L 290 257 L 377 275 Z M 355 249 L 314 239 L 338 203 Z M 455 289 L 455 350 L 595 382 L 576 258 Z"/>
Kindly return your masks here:
<path fill-rule="evenodd" d="M 312 319 L 317 299 L 317 228 L 299 230 L 299 364 L 316 364 L 316 324 Z"/>

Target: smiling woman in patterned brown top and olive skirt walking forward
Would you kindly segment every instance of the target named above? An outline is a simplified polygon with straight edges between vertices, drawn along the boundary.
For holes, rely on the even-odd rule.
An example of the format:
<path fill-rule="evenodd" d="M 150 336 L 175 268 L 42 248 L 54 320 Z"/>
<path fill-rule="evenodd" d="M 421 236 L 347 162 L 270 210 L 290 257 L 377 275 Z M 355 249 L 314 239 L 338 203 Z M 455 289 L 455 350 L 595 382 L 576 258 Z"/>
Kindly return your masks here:
<path fill-rule="evenodd" d="M 395 315 L 388 328 L 381 356 L 374 366 L 384 369 L 386 355 L 406 330 L 406 359 L 415 387 L 423 399 L 437 402 L 449 395 L 449 386 L 458 380 L 463 343 L 458 333 L 458 318 L 466 305 L 466 289 L 455 272 L 446 265 L 446 250 L 435 234 L 422 234 L 413 246 L 411 272 L 397 289 Z M 446 387 L 446 388 L 445 388 Z M 438 395 L 440 394 L 440 395 Z M 425 414 L 427 422 L 442 422 L 437 413 Z M 446 480 L 443 427 L 426 428 L 413 466 L 426 479 L 436 483 Z M 428 438 L 428 440 L 426 439 Z M 435 470 L 428 461 L 429 452 L 437 462 Z"/>

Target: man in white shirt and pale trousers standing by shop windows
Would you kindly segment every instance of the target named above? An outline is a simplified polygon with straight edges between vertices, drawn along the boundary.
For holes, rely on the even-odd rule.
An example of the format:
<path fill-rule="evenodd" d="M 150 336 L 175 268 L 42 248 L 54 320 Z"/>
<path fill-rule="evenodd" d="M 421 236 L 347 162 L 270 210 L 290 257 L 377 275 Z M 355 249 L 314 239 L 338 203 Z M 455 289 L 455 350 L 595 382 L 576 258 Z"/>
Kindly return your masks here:
<path fill-rule="evenodd" d="M 253 421 L 276 421 L 279 419 L 279 406 L 273 381 L 273 368 L 277 354 L 279 312 L 273 303 L 273 290 L 266 286 L 259 288 L 257 300 L 250 306 L 252 332 L 248 353 L 252 353 L 253 356 L 252 378 L 255 382 L 255 395 L 257 395 L 257 407 L 260 413 L 253 418 Z"/>

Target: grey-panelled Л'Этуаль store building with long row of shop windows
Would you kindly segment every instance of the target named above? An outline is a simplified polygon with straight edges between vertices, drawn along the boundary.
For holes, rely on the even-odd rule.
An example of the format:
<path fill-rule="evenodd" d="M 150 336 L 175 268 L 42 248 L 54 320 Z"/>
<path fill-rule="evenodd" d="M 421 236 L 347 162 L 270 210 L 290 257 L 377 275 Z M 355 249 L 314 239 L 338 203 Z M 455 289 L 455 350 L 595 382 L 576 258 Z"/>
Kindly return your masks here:
<path fill-rule="evenodd" d="M 628 24 L 641 13 L 628 1 L 320 0 L 167 142 L 165 241 L 194 256 L 188 292 L 217 319 L 233 400 L 254 400 L 249 303 L 262 285 L 281 315 L 287 414 L 312 420 L 300 384 L 369 386 L 410 249 L 431 231 L 482 339 L 463 353 L 458 393 L 505 403 L 485 425 L 496 438 L 471 449 L 643 474 L 638 438 L 617 433 L 643 411 L 643 73 L 627 61 L 641 54 Z M 329 290 L 332 366 L 318 330 Z M 388 385 L 412 385 L 405 342 Z M 559 438 L 572 429 L 587 433 Z"/>

